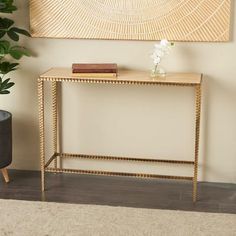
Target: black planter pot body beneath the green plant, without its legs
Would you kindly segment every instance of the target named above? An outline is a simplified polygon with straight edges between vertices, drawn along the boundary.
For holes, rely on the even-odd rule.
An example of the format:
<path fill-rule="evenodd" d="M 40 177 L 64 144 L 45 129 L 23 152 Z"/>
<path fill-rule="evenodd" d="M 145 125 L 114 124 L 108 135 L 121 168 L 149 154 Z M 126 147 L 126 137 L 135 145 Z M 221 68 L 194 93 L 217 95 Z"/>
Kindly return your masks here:
<path fill-rule="evenodd" d="M 0 169 L 12 162 L 12 115 L 0 110 Z"/>

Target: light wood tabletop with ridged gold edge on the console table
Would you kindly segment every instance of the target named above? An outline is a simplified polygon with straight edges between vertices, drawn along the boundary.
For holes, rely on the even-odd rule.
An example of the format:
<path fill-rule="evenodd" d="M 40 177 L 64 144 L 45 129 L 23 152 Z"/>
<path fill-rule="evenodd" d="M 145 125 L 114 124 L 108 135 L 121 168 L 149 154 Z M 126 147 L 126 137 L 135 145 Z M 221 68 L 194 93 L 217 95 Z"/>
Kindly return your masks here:
<path fill-rule="evenodd" d="M 118 84 L 173 84 L 199 85 L 202 82 L 200 73 L 170 73 L 164 77 L 151 78 L 148 71 L 119 69 L 117 78 L 79 77 L 72 74 L 71 68 L 51 68 L 40 75 L 41 80 L 72 80 L 88 83 L 118 83 Z"/>

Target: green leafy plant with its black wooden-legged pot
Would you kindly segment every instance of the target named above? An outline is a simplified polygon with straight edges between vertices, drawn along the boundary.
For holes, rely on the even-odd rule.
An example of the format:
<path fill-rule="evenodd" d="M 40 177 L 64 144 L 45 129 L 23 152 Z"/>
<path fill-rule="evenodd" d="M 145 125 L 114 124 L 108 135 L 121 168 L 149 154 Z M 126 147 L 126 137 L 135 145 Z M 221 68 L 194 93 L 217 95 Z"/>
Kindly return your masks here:
<path fill-rule="evenodd" d="M 8 74 L 18 69 L 23 56 L 30 56 L 30 52 L 20 46 L 20 35 L 30 37 L 28 31 L 15 27 L 15 22 L 5 15 L 17 10 L 14 0 L 0 1 L 0 94 L 9 94 L 14 85 Z M 8 111 L 0 110 L 0 169 L 6 182 L 9 177 L 6 167 L 12 162 L 12 115 Z"/>

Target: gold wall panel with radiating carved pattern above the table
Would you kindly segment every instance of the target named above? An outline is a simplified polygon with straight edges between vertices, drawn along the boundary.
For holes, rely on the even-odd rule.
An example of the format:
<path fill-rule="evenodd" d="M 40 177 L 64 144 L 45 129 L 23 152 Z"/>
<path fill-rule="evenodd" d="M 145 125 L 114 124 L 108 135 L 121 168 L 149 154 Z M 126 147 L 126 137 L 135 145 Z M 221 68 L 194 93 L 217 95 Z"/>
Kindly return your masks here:
<path fill-rule="evenodd" d="M 30 0 L 33 37 L 228 41 L 231 0 Z"/>

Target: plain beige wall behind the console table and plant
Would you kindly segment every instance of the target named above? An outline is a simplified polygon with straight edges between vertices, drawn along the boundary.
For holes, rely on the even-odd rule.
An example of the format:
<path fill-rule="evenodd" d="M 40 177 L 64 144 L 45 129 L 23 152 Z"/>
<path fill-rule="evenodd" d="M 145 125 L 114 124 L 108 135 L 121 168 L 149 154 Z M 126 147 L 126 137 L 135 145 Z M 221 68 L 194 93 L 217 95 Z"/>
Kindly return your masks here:
<path fill-rule="evenodd" d="M 17 4 L 18 25 L 28 28 L 28 1 Z M 17 169 L 39 169 L 36 81 L 40 73 L 54 66 L 69 67 L 73 62 L 117 62 L 120 66 L 148 70 L 154 44 L 35 38 L 22 42 L 36 56 L 22 60 L 21 69 L 12 75 L 16 86 L 11 95 L 0 99 L 1 109 L 14 116 L 11 168 Z M 233 40 L 176 43 L 163 63 L 170 72 L 204 73 L 200 179 L 205 181 L 236 183 L 235 55 Z M 62 93 L 63 148 L 67 152 L 193 158 L 194 95 L 190 88 L 66 84 Z M 47 97 L 49 104 L 50 96 Z M 190 171 L 109 162 L 73 161 L 67 166 L 174 174 Z"/>

